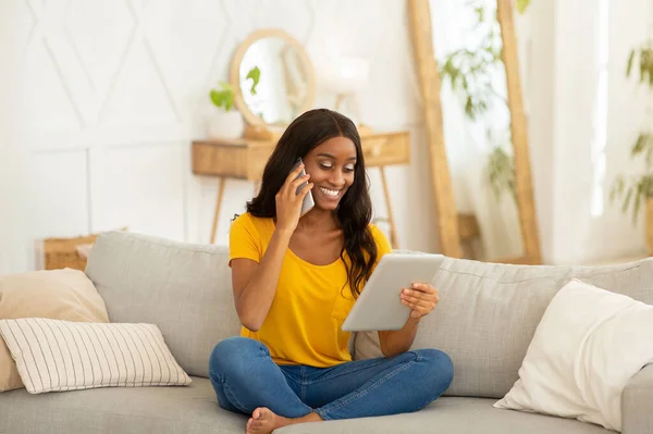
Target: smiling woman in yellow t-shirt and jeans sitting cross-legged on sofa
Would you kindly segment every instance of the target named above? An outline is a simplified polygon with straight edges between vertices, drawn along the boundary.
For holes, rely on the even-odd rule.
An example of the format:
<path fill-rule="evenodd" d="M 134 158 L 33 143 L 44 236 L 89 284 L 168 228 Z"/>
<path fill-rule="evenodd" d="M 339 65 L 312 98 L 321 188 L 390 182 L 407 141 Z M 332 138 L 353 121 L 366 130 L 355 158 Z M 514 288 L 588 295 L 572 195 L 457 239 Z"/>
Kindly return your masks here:
<path fill-rule="evenodd" d="M 298 158 L 303 165 L 292 170 Z M 300 216 L 309 191 L 315 208 Z M 352 361 L 341 325 L 391 251 L 371 212 L 352 121 L 324 109 L 296 119 L 266 165 L 259 195 L 232 224 L 230 266 L 244 327 L 218 344 L 209 362 L 220 406 L 251 414 L 247 433 L 417 411 L 449 386 L 445 354 L 409 351 L 418 323 L 438 303 L 430 285 L 403 289 L 412 311 L 403 330 L 379 332 L 385 357 Z"/>

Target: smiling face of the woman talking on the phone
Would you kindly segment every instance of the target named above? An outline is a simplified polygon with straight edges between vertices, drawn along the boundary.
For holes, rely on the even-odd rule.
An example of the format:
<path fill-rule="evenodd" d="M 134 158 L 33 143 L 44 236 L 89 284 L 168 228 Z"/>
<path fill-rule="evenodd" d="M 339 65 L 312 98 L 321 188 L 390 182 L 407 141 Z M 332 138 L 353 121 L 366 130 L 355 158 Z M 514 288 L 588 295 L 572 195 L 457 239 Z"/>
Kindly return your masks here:
<path fill-rule="evenodd" d="M 333 137 L 313 148 L 304 159 L 304 166 L 315 184 L 311 193 L 316 207 L 335 210 L 354 184 L 356 146 L 346 137 Z"/>

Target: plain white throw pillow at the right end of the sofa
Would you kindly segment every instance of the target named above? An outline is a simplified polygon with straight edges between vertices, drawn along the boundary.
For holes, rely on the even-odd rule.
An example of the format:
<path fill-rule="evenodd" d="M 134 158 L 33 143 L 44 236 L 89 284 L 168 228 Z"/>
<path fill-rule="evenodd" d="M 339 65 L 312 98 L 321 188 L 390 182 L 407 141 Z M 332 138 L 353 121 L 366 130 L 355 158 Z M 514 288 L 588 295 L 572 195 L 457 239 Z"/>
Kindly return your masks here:
<path fill-rule="evenodd" d="M 621 392 L 653 361 L 652 343 L 653 306 L 572 280 L 551 300 L 519 380 L 494 407 L 621 431 Z"/>

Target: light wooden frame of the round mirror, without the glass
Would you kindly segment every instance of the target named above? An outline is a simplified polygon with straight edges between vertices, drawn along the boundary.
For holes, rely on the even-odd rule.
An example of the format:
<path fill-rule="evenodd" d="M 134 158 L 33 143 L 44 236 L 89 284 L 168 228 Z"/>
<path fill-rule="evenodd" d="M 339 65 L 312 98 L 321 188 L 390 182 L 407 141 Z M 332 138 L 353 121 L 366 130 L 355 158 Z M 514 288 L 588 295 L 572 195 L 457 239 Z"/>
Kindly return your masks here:
<path fill-rule="evenodd" d="M 230 67 L 230 84 L 234 89 L 234 106 L 243 114 L 245 121 L 252 126 L 268 126 L 268 124 L 258 115 L 256 115 L 243 98 L 243 91 L 241 90 L 241 62 L 247 52 L 247 49 L 259 39 L 268 37 L 278 37 L 284 39 L 292 47 L 297 49 L 297 53 L 301 63 L 306 66 L 306 73 L 308 78 L 308 96 L 306 101 L 300 108 L 301 112 L 310 110 L 316 99 L 316 74 L 312 62 L 308 57 L 308 53 L 304 49 L 304 46 L 299 41 L 293 38 L 291 35 L 280 28 L 262 28 L 251 33 L 241 45 L 234 53 Z"/>

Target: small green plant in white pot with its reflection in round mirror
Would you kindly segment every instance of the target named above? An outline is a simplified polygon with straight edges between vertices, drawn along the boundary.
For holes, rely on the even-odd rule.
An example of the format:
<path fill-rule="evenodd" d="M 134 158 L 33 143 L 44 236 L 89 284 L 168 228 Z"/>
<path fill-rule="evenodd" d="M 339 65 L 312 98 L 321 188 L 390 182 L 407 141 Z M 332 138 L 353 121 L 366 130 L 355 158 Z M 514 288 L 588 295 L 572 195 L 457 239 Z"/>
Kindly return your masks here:
<path fill-rule="evenodd" d="M 251 95 L 256 95 L 256 87 L 259 84 L 261 72 L 258 66 L 254 66 L 247 73 L 246 79 L 251 79 L 249 88 Z M 209 98 L 218 109 L 208 121 L 208 136 L 212 139 L 233 140 L 243 137 L 245 131 L 245 121 L 243 114 L 234 109 L 235 92 L 233 87 L 226 82 L 219 82 L 217 89 L 211 89 Z"/>

